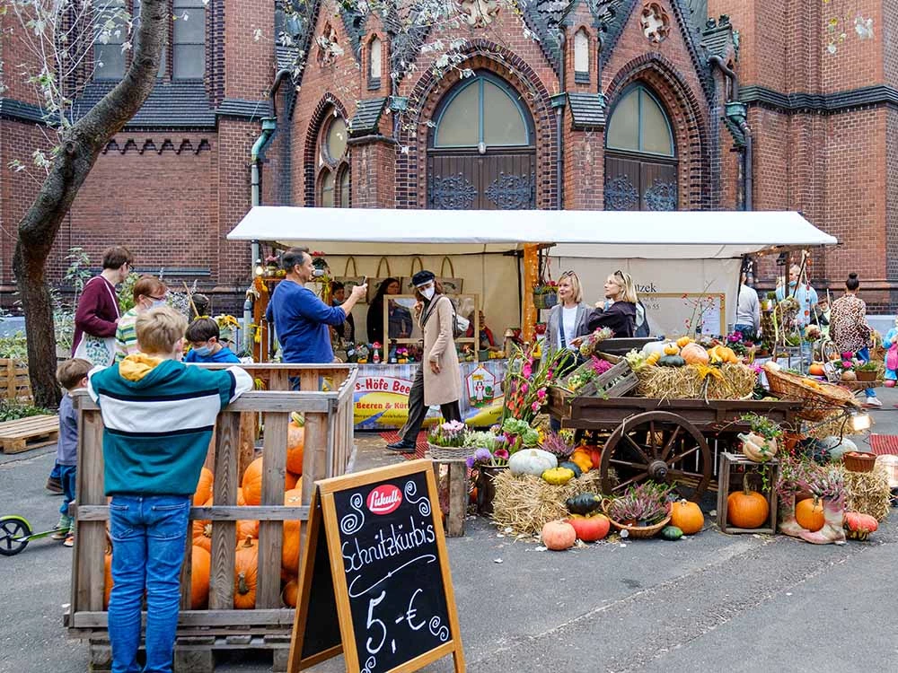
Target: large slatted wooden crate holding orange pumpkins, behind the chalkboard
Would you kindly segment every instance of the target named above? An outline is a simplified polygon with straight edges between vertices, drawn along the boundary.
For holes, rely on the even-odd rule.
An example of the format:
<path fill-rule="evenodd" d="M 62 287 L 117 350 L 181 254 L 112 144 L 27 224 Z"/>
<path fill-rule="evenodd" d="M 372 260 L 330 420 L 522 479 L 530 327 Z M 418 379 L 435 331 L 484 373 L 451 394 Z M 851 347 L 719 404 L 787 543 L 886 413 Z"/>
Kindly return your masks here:
<path fill-rule="evenodd" d="M 220 369 L 221 365 L 207 365 Z M 355 365 L 258 364 L 243 365 L 253 377 L 264 376 L 269 389 L 244 393 L 218 415 L 214 454 L 215 487 L 211 507 L 193 507 L 190 519 L 212 521 L 212 563 L 207 609 L 190 607 L 190 550 L 181 571 L 181 611 L 178 620 L 176 656 L 183 660 L 191 651 L 190 668 L 208 673 L 212 652 L 259 647 L 280 649 L 293 629 L 292 608 L 281 603 L 281 549 L 283 522 L 309 518 L 314 482 L 345 473 L 353 444 L 353 393 Z M 321 381 L 330 380 L 330 390 L 321 392 Z M 292 380 L 300 390 L 290 390 Z M 103 493 L 102 417 L 99 408 L 84 392 L 75 394 L 79 414 L 78 505 L 75 511 L 75 557 L 72 565 L 71 603 L 65 616 L 70 637 L 91 643 L 92 668 L 102 669 L 107 642 L 107 612 L 103 609 L 106 528 L 109 506 Z M 301 506 L 284 505 L 286 475 L 286 431 L 292 412 L 305 415 L 303 499 Z M 259 414 L 265 425 L 262 450 L 262 495 L 259 506 L 237 506 L 241 475 L 241 415 Z M 256 608 L 233 609 L 234 549 L 237 520 L 260 520 L 259 584 Z M 192 522 L 191 522 L 192 525 Z M 304 546 L 305 528 L 300 534 Z M 114 551 L 113 551 L 114 554 Z M 199 640 L 198 640 L 199 639 Z M 205 639 L 205 640 L 203 640 Z M 284 641 L 283 639 L 286 639 Z M 262 643 L 261 645 L 259 643 Z M 279 655 L 278 655 L 279 656 Z"/>

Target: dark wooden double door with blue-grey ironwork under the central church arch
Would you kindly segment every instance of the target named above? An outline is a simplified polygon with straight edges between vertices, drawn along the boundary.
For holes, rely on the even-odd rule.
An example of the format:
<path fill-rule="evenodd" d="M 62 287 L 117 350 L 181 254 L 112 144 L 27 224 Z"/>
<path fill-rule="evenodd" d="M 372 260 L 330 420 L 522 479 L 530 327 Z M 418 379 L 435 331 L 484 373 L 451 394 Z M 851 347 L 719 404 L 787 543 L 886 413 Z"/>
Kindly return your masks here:
<path fill-rule="evenodd" d="M 536 152 L 476 149 L 427 155 L 427 207 L 520 210 L 536 207 Z"/>

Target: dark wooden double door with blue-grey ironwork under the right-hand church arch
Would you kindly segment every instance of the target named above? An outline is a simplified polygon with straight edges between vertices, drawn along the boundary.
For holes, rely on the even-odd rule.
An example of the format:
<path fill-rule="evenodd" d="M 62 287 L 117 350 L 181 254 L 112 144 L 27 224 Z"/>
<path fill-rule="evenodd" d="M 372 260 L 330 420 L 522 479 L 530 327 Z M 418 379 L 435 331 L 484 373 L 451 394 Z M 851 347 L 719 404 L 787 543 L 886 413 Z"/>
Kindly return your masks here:
<path fill-rule="evenodd" d="M 605 155 L 605 210 L 677 210 L 677 164 Z"/>

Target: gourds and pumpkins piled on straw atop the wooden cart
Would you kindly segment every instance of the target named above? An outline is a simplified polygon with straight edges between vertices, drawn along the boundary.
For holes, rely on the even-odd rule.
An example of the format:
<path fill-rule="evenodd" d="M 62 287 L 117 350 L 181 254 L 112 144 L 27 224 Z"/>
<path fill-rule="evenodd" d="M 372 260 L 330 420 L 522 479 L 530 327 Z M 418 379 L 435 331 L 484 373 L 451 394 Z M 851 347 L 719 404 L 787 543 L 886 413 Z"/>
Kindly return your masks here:
<path fill-rule="evenodd" d="M 653 341 L 627 354 L 639 380 L 637 394 L 646 398 L 738 399 L 750 395 L 757 375 L 732 348 L 695 343 Z"/>

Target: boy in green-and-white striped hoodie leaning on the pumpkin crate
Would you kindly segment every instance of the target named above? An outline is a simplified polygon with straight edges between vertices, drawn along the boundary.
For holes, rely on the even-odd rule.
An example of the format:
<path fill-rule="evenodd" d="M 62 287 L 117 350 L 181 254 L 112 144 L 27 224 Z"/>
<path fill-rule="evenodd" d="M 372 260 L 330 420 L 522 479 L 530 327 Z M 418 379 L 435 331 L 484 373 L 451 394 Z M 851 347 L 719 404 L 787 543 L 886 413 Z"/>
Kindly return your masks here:
<path fill-rule="evenodd" d="M 242 369 L 180 362 L 187 320 L 169 307 L 136 321 L 139 352 L 93 370 L 88 391 L 103 417 L 103 478 L 110 502 L 112 670 L 140 670 L 140 607 L 146 591 L 146 668 L 172 670 L 180 566 L 191 497 L 216 416 L 252 388 Z"/>

